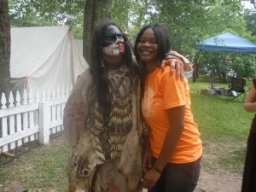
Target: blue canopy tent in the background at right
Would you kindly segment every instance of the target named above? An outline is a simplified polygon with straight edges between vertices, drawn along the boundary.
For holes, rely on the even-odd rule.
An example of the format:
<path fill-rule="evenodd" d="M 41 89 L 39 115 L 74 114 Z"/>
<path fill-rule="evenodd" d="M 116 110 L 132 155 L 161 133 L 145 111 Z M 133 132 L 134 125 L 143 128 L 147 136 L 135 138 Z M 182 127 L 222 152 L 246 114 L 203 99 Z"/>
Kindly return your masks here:
<path fill-rule="evenodd" d="M 256 44 L 240 38 L 230 32 L 208 38 L 200 44 L 195 45 L 199 51 L 216 51 L 227 53 L 253 54 L 254 73 L 256 74 L 256 65 L 254 54 L 256 54 Z"/>

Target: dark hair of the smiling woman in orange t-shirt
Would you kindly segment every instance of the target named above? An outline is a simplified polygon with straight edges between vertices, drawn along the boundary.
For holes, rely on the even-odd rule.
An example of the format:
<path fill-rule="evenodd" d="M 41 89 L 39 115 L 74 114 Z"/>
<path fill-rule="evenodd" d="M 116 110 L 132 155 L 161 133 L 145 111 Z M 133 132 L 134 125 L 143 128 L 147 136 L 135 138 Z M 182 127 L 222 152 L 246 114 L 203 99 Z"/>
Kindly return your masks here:
<path fill-rule="evenodd" d="M 154 36 L 156 39 L 156 43 L 158 45 L 158 50 L 157 50 L 157 59 L 159 63 L 161 63 L 162 60 L 166 58 L 166 54 L 169 52 L 171 49 L 171 40 L 169 38 L 168 32 L 166 32 L 166 29 L 163 26 L 159 26 L 157 24 L 150 24 L 148 26 L 144 26 L 143 29 L 137 34 L 137 38 L 135 40 L 134 44 L 134 55 L 136 57 L 137 62 L 142 66 L 142 73 L 141 73 L 141 93 L 143 95 L 144 92 L 144 85 L 145 85 L 145 79 L 148 74 L 148 69 L 145 66 L 145 63 L 141 61 L 140 55 L 138 54 L 137 50 L 137 44 L 140 43 L 140 40 L 143 36 L 143 33 L 147 29 L 152 29 L 154 32 Z"/>

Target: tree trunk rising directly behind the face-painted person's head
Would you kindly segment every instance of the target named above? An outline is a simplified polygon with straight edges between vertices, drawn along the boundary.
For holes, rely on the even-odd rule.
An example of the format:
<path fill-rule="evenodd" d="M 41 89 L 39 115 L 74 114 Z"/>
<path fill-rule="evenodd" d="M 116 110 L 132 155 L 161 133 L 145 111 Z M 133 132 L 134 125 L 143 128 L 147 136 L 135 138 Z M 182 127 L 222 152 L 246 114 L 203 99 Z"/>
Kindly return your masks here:
<path fill-rule="evenodd" d="M 84 5 L 83 55 L 90 65 L 90 45 L 96 26 L 111 20 L 112 0 L 87 0 Z"/>

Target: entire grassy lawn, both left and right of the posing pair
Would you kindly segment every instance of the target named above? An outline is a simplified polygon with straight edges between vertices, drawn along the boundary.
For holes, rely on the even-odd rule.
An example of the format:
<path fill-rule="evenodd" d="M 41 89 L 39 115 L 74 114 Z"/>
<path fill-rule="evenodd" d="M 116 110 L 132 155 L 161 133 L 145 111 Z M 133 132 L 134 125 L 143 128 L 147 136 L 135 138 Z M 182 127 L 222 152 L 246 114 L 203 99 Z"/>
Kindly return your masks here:
<path fill-rule="evenodd" d="M 245 112 L 242 102 L 199 94 L 209 83 L 189 82 L 189 85 L 192 112 L 204 148 L 202 166 L 208 172 L 241 173 L 253 113 Z M 0 191 L 1 187 L 4 189 L 15 182 L 22 184 L 20 191 L 65 191 L 67 177 L 64 169 L 69 154 L 70 148 L 65 142 L 32 149 L 0 167 Z"/>

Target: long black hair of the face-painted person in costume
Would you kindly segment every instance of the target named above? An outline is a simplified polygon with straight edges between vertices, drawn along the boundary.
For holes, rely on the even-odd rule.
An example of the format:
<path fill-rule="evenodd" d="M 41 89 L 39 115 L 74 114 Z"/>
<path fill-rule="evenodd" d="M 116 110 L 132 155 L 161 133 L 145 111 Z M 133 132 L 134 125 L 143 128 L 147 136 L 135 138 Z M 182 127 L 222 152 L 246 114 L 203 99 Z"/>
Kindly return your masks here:
<path fill-rule="evenodd" d="M 96 26 L 91 42 L 90 73 L 92 74 L 92 78 L 96 84 L 96 95 L 100 105 L 102 105 L 108 99 L 108 80 L 104 79 L 104 67 L 102 67 L 102 34 L 107 27 L 111 25 L 117 26 L 114 23 L 103 23 Z M 117 27 L 119 28 L 119 26 Z M 123 61 L 127 67 L 132 67 L 131 47 L 129 46 L 127 37 L 123 35 L 123 38 L 125 40 L 125 53 L 123 55 Z"/>

